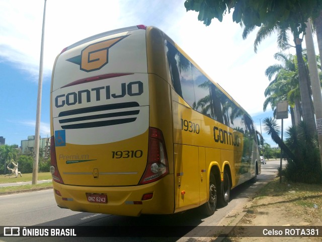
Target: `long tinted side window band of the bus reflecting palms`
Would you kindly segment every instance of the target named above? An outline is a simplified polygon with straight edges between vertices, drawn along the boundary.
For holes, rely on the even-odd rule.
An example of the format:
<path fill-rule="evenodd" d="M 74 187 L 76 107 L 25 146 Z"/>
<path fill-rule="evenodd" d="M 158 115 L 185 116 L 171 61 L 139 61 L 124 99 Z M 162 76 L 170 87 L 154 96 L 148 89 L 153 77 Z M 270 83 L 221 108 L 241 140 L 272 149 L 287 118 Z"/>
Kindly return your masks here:
<path fill-rule="evenodd" d="M 239 132 L 255 133 L 252 119 L 198 70 L 178 49 L 166 42 L 173 87 L 194 110 Z"/>

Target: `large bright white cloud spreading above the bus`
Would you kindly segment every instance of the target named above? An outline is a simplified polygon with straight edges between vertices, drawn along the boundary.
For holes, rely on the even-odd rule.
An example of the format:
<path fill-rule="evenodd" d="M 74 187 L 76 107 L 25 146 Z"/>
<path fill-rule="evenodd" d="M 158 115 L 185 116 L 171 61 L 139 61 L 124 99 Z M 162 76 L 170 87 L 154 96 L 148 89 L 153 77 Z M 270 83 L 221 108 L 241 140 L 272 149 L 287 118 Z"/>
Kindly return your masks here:
<path fill-rule="evenodd" d="M 206 27 L 198 13 L 181 1 L 47 1 L 44 74 L 50 76 L 57 54 L 68 45 L 108 30 L 137 24 L 166 32 L 195 62 L 250 114 L 262 112 L 268 79 L 276 61 L 276 38 L 254 53 L 256 31 L 243 40 L 231 15 Z M 38 80 L 44 1 L 0 1 L 0 61 L 10 61 Z"/>

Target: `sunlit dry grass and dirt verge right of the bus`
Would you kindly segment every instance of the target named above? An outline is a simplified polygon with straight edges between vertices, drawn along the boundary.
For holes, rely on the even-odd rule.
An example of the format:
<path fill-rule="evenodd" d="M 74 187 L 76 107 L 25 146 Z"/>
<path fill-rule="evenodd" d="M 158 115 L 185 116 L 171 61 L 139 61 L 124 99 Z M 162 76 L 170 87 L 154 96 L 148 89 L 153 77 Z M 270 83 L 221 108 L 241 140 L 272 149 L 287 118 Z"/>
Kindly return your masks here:
<path fill-rule="evenodd" d="M 289 223 L 292 223 L 294 219 L 294 221 L 308 223 L 309 226 L 319 225 L 322 220 L 322 185 L 291 183 L 287 181 L 282 181 L 282 183 L 280 183 L 279 178 L 276 178 L 263 187 L 255 195 L 253 201 L 248 206 L 244 207 L 247 212 L 243 219 L 236 224 L 241 225 L 241 227 L 238 228 L 239 230 L 232 230 L 229 237 L 224 238 L 222 241 L 255 241 L 252 237 L 245 237 L 243 226 L 245 226 L 245 224 L 257 225 L 257 222 L 260 220 L 256 220 L 256 218 L 261 216 L 263 208 L 267 214 L 270 214 L 274 210 L 281 211 L 284 209 L 285 213 L 281 213 L 281 216 L 284 218 L 283 221 Z M 280 221 L 278 216 L 275 219 L 276 221 Z M 320 241 L 319 238 L 316 240 L 315 238 L 309 240 Z M 260 241 L 272 241 L 272 238 L 262 238 Z"/>

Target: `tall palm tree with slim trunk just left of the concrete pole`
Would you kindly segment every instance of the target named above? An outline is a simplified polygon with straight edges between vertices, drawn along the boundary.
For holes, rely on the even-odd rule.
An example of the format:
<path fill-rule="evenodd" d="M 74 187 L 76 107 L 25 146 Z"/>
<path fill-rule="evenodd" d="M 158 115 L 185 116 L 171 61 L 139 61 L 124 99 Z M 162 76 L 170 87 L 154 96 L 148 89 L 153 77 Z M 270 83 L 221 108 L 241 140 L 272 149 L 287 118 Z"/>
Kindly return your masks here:
<path fill-rule="evenodd" d="M 246 39 L 247 36 L 255 30 L 256 26 L 245 27 L 243 31 L 243 38 Z M 298 66 L 298 80 L 299 80 L 299 89 L 301 96 L 301 106 L 303 112 L 303 119 L 307 123 L 308 127 L 310 127 L 311 134 L 316 133 L 315 119 L 314 119 L 314 111 L 311 106 L 310 101 L 310 82 L 308 79 L 308 74 L 305 69 L 305 64 L 302 55 L 302 39 L 299 38 L 299 29 L 291 28 L 289 25 L 281 25 L 279 22 L 274 24 L 262 24 L 259 31 L 257 32 L 256 39 L 254 42 L 254 50 L 257 52 L 258 45 L 272 33 L 277 32 L 277 44 L 278 47 L 282 50 L 285 50 L 291 45 L 289 44 L 289 31 L 291 31 L 293 35 L 293 41 L 295 43 L 296 50 L 296 58 L 297 58 L 297 66 Z"/>

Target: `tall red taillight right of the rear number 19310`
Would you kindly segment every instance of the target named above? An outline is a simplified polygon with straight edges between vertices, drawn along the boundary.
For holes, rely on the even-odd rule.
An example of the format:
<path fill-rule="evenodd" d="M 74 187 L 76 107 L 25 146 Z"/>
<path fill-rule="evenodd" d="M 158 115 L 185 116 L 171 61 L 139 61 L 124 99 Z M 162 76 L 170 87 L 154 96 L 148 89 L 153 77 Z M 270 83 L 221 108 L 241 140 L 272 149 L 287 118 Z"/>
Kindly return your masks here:
<path fill-rule="evenodd" d="M 150 127 L 147 165 L 140 184 L 155 182 L 168 174 L 168 156 L 162 131 Z"/>

